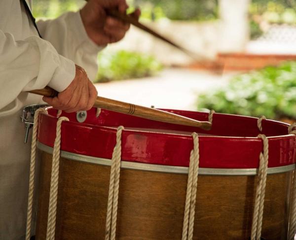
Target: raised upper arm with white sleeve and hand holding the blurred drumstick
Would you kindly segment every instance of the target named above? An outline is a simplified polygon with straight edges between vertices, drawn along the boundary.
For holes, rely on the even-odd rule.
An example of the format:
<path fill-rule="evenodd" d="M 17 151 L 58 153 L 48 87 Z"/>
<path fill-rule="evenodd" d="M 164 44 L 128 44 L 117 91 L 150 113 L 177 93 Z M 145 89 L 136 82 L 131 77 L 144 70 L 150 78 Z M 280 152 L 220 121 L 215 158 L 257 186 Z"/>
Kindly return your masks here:
<path fill-rule="evenodd" d="M 80 12 L 38 21 L 37 26 L 41 36 L 50 41 L 59 54 L 82 66 L 94 80 L 98 51 L 122 39 L 129 29 L 129 24 L 107 16 L 105 9 L 118 8 L 124 13 L 127 7 L 125 0 L 89 0 Z M 132 16 L 138 19 L 140 10 Z"/>

